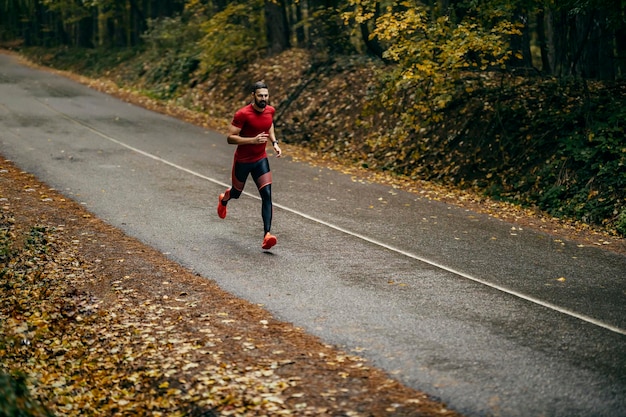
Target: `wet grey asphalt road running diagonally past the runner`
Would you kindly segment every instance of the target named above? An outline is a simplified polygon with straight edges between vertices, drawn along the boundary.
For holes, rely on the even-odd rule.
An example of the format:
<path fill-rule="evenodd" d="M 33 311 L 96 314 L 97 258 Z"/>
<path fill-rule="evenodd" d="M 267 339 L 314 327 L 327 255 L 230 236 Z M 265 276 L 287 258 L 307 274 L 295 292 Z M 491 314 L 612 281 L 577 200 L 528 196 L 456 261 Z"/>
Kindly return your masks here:
<path fill-rule="evenodd" d="M 288 156 L 264 252 L 233 151 L 0 55 L 0 153 L 128 235 L 468 416 L 626 416 L 626 257 Z"/>

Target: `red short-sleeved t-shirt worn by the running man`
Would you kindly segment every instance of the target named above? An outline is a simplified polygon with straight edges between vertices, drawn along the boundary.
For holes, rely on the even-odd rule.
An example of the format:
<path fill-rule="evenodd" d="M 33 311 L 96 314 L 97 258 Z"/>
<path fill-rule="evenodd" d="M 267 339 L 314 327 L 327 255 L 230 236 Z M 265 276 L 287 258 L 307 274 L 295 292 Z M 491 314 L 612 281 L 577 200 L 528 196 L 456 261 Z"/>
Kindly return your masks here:
<path fill-rule="evenodd" d="M 241 129 L 239 136 L 242 138 L 253 138 L 259 133 L 269 133 L 270 127 L 274 122 L 274 113 L 276 109 L 272 106 L 266 106 L 261 113 L 256 111 L 252 104 L 242 107 L 235 113 L 233 126 Z M 256 162 L 267 157 L 265 147 L 267 143 L 238 145 L 235 150 L 235 161 L 237 162 Z"/>

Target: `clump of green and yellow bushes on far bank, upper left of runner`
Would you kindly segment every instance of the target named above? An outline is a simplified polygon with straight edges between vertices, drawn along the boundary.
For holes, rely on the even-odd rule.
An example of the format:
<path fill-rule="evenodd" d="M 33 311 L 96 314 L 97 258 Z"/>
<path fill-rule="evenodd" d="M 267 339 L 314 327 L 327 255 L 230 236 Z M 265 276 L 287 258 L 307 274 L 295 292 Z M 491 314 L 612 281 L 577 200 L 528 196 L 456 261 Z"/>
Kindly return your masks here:
<path fill-rule="evenodd" d="M 145 51 L 132 61 L 126 81 L 140 84 L 152 98 L 180 97 L 211 74 L 260 55 L 265 48 L 263 2 L 234 2 L 220 12 L 188 2 L 179 16 L 149 20 L 142 38 Z"/>

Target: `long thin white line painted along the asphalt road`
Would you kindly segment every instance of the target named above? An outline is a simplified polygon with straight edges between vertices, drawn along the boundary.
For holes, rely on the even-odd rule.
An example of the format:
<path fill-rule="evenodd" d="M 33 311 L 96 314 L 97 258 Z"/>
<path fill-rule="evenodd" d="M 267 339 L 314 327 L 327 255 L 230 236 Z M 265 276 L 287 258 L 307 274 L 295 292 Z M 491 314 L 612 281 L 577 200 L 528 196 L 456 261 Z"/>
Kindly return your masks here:
<path fill-rule="evenodd" d="M 62 113 L 62 112 L 60 112 L 60 111 L 58 111 L 58 110 L 54 109 L 53 107 L 50 107 L 50 106 L 49 106 L 48 104 L 46 104 L 46 103 L 43 103 L 43 102 L 41 102 L 41 101 L 40 101 L 40 103 L 42 103 L 44 106 L 48 107 L 50 110 L 54 111 L 55 113 L 60 114 L 60 115 L 61 115 L 61 116 L 63 116 L 65 119 L 67 119 L 67 120 L 69 120 L 69 121 L 71 121 L 71 122 L 73 122 L 73 123 L 76 123 L 76 124 L 78 124 L 78 125 L 80 125 L 80 126 L 84 127 L 85 129 L 87 129 L 87 130 L 89 130 L 89 131 L 91 131 L 91 132 L 95 133 L 96 135 L 98 135 L 98 136 L 100 136 L 100 137 L 102 137 L 102 138 L 104 138 L 104 139 L 106 139 L 106 140 L 108 140 L 108 141 L 111 141 L 111 142 L 113 142 L 113 143 L 116 143 L 116 144 L 118 144 L 118 145 L 120 145 L 120 146 L 122 146 L 122 147 L 124 147 L 124 148 L 126 148 L 126 149 L 129 149 L 129 150 L 131 150 L 131 151 L 133 151 L 133 152 L 136 152 L 136 153 L 138 153 L 138 154 L 140 154 L 140 155 L 143 155 L 143 156 L 145 156 L 145 157 L 147 157 L 147 158 L 154 159 L 155 161 L 161 162 L 161 163 L 163 163 L 163 164 L 165 164 L 165 165 L 169 165 L 169 166 L 170 166 L 170 167 L 172 167 L 172 168 L 176 168 L 176 169 L 178 169 L 178 170 L 180 170 L 180 171 L 186 172 L 186 173 L 188 173 L 188 174 L 190 174 L 190 175 L 196 176 L 196 177 L 201 178 L 201 179 L 203 179 L 203 180 L 206 180 L 206 181 L 212 182 L 212 183 L 217 184 L 217 185 L 221 185 L 221 186 L 223 186 L 223 187 L 230 187 L 230 184 L 227 184 L 227 183 L 224 183 L 224 182 L 222 182 L 222 181 L 216 180 L 215 178 L 207 177 L 206 175 L 202 175 L 202 174 L 200 174 L 200 173 L 198 173 L 198 172 L 192 171 L 192 170 L 190 170 L 190 169 L 188 169 L 188 168 L 185 168 L 185 167 L 183 167 L 183 166 L 180 166 L 180 165 L 178 165 L 178 164 L 175 164 L 175 163 L 173 163 L 173 162 L 170 162 L 170 161 L 168 161 L 168 160 L 166 160 L 166 159 L 163 159 L 163 158 L 161 158 L 160 156 L 153 155 L 153 154 L 151 154 L 151 153 L 149 153 L 149 152 L 142 151 L 141 149 L 138 149 L 138 148 L 135 148 L 134 146 L 128 145 L 128 144 L 126 144 L 126 143 L 124 143 L 124 142 L 122 142 L 122 141 L 119 141 L 119 140 L 117 140 L 117 139 L 115 139 L 115 138 L 111 137 L 111 136 L 108 136 L 106 133 L 100 132 L 99 130 L 97 130 L 97 129 L 95 129 L 95 128 L 91 127 L 91 126 L 89 126 L 89 125 L 87 125 L 87 124 L 85 124 L 85 123 L 82 123 L 82 122 L 81 122 L 81 121 L 79 121 L 79 120 L 73 119 L 72 117 L 68 116 L 67 114 Z M 245 191 L 243 192 L 243 194 L 245 194 L 245 195 L 246 195 L 246 196 L 248 196 L 248 197 L 252 197 L 252 198 L 255 198 L 255 199 L 257 199 L 257 200 L 260 200 L 260 197 L 259 197 L 259 196 L 257 196 L 257 195 L 250 194 L 250 193 L 245 192 Z M 400 254 L 400 255 L 406 256 L 406 257 L 411 258 L 411 259 L 415 259 L 415 260 L 417 260 L 417 261 L 420 261 L 420 262 L 423 262 L 423 263 L 425 263 L 425 264 L 431 265 L 431 266 L 433 266 L 433 267 L 435 267 L 435 268 L 439 268 L 439 269 L 442 269 L 442 270 L 444 270 L 444 271 L 450 272 L 451 274 L 458 275 L 458 276 L 463 277 L 463 278 L 465 278 L 465 279 L 468 279 L 468 280 L 470 280 L 470 281 L 474 281 L 474 282 L 476 282 L 476 283 L 478 283 L 478 284 L 485 285 L 485 286 L 487 286 L 487 287 L 490 287 L 490 288 L 493 288 L 493 289 L 495 289 L 495 290 L 501 291 L 501 292 L 503 292 L 503 293 L 506 293 L 506 294 L 512 295 L 512 296 L 517 297 L 517 298 L 520 298 L 520 299 L 522 299 L 522 300 L 525 300 L 525 301 L 528 301 L 528 302 L 531 302 L 531 303 L 534 303 L 534 304 L 540 305 L 540 306 L 545 307 L 545 308 L 548 308 L 548 309 L 550 309 L 550 310 L 557 311 L 557 312 L 559 312 L 559 313 L 562 313 L 562 314 L 565 314 L 565 315 L 568 315 L 568 316 L 571 316 L 571 317 L 577 318 L 577 319 L 579 319 L 579 320 L 585 321 L 585 322 L 590 323 L 590 324 L 593 324 L 593 325 L 595 325 L 595 326 L 602 327 L 602 328 L 604 328 L 604 329 L 606 329 L 606 330 L 610 330 L 610 331 L 612 331 L 612 332 L 619 333 L 619 334 L 621 334 L 621 335 L 625 335 L 625 336 L 626 336 L 626 330 L 621 329 L 621 328 L 616 327 L 616 326 L 613 326 L 613 325 L 610 325 L 610 324 L 607 324 L 607 323 L 604 323 L 604 322 L 602 322 L 602 321 L 600 321 L 600 320 L 596 320 L 596 319 L 594 319 L 593 317 L 589 317 L 589 316 L 587 316 L 587 315 L 580 314 L 580 313 L 577 313 L 577 312 L 575 312 L 575 311 L 572 311 L 572 310 L 569 310 L 569 309 L 566 309 L 566 308 L 563 308 L 563 307 L 559 307 L 559 306 L 557 306 L 557 305 L 555 305 L 555 304 L 548 303 L 548 302 L 546 302 L 546 301 L 542 301 L 542 300 L 540 300 L 540 299 L 538 299 L 538 298 L 531 297 L 531 296 L 526 295 L 526 294 L 522 294 L 521 292 L 518 292 L 518 291 L 515 291 L 515 290 L 511 290 L 511 289 L 508 289 L 508 288 L 502 287 L 502 286 L 497 285 L 497 284 L 493 284 L 493 283 L 491 283 L 491 282 L 488 282 L 488 281 L 482 280 L 482 279 L 480 279 L 480 278 L 473 277 L 473 276 L 468 275 L 468 274 L 466 274 L 466 273 L 464 273 L 464 272 L 457 271 L 456 269 L 453 269 L 453 268 L 447 267 L 447 266 L 445 266 L 445 265 L 442 265 L 442 264 L 440 264 L 440 263 L 438 263 L 438 262 L 434 262 L 434 261 L 431 261 L 431 260 L 429 260 L 429 259 L 422 258 L 421 256 L 415 255 L 415 254 L 413 254 L 413 253 L 407 252 L 407 251 L 402 250 L 402 249 L 398 249 L 398 248 L 393 247 L 393 246 L 390 246 L 390 245 L 388 245 L 388 244 L 386 244 L 386 243 L 379 242 L 379 241 L 377 241 L 377 240 L 375 240 L 375 239 L 372 239 L 372 238 L 370 238 L 370 237 L 367 237 L 367 236 L 361 235 L 361 234 L 359 234 L 359 233 L 352 232 L 352 231 L 347 230 L 347 229 L 344 229 L 344 228 L 342 228 L 342 227 L 340 227 L 340 226 L 334 225 L 334 224 L 332 224 L 332 223 L 328 223 L 328 222 L 326 222 L 326 221 L 324 221 L 324 220 L 317 219 L 317 218 L 315 218 L 315 217 L 309 216 L 309 215 L 308 215 L 308 214 L 306 214 L 306 213 L 302 213 L 302 212 L 300 212 L 300 211 L 297 211 L 297 210 L 294 210 L 294 209 L 292 209 L 292 208 L 289 208 L 289 207 L 283 206 L 283 205 L 281 205 L 281 204 L 276 204 L 276 203 L 274 203 L 274 206 L 275 206 L 275 207 L 278 207 L 278 208 L 280 208 L 280 209 L 282 209 L 282 210 L 285 210 L 285 211 L 287 211 L 287 212 L 290 212 L 290 213 L 292 213 L 292 214 L 295 214 L 295 215 L 297 215 L 297 216 L 300 216 L 300 217 L 302 217 L 302 218 L 305 218 L 305 219 L 307 219 L 307 220 L 310 220 L 310 221 L 313 221 L 313 222 L 315 222 L 315 223 L 318 223 L 318 224 L 321 224 L 321 225 L 323 225 L 323 226 L 326 226 L 326 227 L 329 227 L 329 228 L 331 228 L 331 229 L 334 229 L 334 230 L 336 230 L 336 231 L 338 231 L 338 232 L 341 232 L 341 233 L 347 234 L 347 235 L 352 236 L 352 237 L 356 237 L 356 238 L 358 238 L 358 239 L 361 239 L 361 240 L 364 240 L 364 241 L 366 241 L 366 242 L 372 243 L 372 244 L 374 244 L 374 245 L 376 245 L 376 246 L 380 246 L 380 247 L 382 247 L 382 248 L 385 248 L 385 249 L 390 250 L 390 251 L 392 251 L 392 252 L 395 252 L 395 253 L 397 253 L 397 254 Z"/>

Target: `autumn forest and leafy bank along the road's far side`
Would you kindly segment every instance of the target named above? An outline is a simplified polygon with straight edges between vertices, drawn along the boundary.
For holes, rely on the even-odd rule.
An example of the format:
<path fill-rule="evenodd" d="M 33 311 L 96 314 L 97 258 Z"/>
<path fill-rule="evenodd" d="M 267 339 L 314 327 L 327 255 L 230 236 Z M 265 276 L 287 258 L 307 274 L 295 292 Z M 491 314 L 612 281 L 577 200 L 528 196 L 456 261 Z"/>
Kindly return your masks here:
<path fill-rule="evenodd" d="M 626 235 L 623 0 L 4 0 L 0 43 L 288 143 Z"/>

